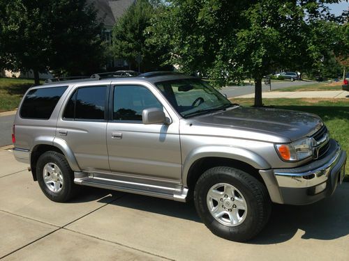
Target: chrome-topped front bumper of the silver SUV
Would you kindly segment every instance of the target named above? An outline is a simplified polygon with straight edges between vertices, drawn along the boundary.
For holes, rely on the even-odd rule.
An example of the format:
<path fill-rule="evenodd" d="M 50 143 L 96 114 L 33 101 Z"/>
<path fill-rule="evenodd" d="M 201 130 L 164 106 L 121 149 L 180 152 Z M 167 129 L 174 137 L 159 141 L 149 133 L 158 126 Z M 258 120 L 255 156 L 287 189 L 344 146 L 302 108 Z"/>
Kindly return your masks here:
<path fill-rule="evenodd" d="M 331 196 L 345 175 L 346 152 L 333 139 L 322 159 L 298 168 L 274 169 L 284 204 L 307 205 Z"/>

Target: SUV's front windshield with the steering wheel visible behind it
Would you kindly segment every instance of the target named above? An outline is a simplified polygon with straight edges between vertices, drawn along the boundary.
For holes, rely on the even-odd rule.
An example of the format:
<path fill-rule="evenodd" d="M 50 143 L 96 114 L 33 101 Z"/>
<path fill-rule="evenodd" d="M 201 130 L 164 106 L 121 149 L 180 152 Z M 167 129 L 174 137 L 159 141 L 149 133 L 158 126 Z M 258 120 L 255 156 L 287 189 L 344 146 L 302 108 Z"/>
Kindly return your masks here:
<path fill-rule="evenodd" d="M 227 98 L 200 79 L 177 79 L 155 84 L 183 117 L 231 106 Z"/>

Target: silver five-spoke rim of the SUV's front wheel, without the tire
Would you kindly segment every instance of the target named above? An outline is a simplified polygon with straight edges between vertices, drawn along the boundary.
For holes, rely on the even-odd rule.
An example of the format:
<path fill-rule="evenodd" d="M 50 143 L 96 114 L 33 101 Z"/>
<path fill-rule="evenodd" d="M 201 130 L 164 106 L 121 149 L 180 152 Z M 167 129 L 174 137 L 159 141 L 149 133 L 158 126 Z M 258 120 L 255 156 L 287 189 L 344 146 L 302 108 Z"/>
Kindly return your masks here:
<path fill-rule="evenodd" d="M 239 226 L 247 214 L 244 196 L 239 189 L 227 183 L 215 184 L 209 189 L 207 207 L 214 219 L 225 226 Z"/>

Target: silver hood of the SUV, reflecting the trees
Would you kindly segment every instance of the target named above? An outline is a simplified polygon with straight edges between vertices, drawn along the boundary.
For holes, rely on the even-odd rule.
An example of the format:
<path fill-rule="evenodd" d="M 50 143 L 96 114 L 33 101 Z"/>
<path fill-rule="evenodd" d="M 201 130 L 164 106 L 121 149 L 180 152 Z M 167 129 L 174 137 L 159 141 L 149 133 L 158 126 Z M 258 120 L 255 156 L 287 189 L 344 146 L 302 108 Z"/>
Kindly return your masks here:
<path fill-rule="evenodd" d="M 235 129 L 236 132 L 230 132 L 231 136 L 235 136 L 235 133 L 241 136 L 246 132 L 248 135 L 244 137 L 246 139 L 274 142 L 290 142 L 304 136 L 311 136 L 323 125 L 320 117 L 310 113 L 242 106 L 198 116 L 191 120 L 201 126 Z M 268 136 L 267 139 L 266 136 Z"/>

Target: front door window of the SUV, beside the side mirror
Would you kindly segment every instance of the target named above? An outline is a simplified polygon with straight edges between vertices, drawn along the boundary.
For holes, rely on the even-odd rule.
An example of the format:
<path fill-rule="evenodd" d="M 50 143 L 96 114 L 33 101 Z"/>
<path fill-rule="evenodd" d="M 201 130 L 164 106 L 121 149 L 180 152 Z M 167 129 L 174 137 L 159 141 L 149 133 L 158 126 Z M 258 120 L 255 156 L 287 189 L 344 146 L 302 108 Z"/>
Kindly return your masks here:
<path fill-rule="evenodd" d="M 114 120 L 142 120 L 142 111 L 163 109 L 156 97 L 142 86 L 114 86 Z"/>

